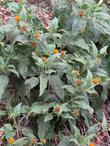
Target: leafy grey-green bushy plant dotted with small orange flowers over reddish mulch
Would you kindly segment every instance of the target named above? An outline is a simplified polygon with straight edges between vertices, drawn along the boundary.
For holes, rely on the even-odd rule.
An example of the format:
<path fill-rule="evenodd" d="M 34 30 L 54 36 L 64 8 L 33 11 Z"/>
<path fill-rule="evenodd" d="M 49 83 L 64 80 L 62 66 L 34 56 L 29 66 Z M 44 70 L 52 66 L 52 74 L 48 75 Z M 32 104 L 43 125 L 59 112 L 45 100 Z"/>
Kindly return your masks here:
<path fill-rule="evenodd" d="M 46 30 L 25 0 L 5 5 L 12 12 L 0 26 L 0 100 L 7 105 L 0 117 L 9 120 L 1 127 L 5 145 L 14 137 L 15 146 L 88 146 L 99 125 L 108 130 L 104 114 L 102 122 L 92 121 L 108 96 L 108 10 L 95 2 L 52 1 L 54 18 Z M 81 117 L 85 134 L 76 126 Z"/>

